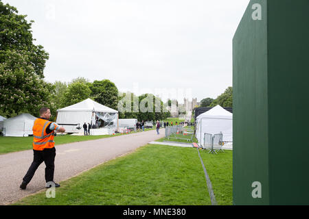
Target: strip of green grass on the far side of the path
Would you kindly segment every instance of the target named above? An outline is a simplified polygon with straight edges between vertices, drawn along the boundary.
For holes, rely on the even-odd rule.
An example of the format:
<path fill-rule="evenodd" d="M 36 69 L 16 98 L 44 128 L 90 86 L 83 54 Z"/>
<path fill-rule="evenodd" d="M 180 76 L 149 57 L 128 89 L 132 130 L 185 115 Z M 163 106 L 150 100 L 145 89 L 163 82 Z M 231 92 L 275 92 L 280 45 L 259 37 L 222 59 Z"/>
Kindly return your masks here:
<path fill-rule="evenodd" d="M 152 129 L 145 129 L 145 131 L 149 131 Z M 136 131 L 132 131 L 130 133 L 136 133 Z M 130 134 L 128 133 L 128 134 Z M 127 133 L 117 133 L 114 136 L 122 136 L 128 135 Z M 114 137 L 110 135 L 106 136 L 56 136 L 55 144 L 68 144 L 71 142 L 82 142 L 87 140 L 95 140 L 99 138 L 110 138 Z M 33 137 L 0 137 L 0 154 L 11 153 L 16 151 L 25 151 L 32 150 L 32 141 Z"/>

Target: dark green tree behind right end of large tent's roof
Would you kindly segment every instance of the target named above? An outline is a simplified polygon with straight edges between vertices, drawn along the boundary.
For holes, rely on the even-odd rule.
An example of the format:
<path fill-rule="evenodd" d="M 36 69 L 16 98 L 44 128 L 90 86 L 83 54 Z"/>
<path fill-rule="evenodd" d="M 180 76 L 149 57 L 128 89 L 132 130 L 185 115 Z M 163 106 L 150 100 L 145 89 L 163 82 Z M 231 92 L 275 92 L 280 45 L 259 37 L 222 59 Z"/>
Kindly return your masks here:
<path fill-rule="evenodd" d="M 118 105 L 118 89 L 115 83 L 105 79 L 102 81 L 93 81 L 89 85 L 91 96 L 93 99 L 106 107 L 117 110 Z"/>

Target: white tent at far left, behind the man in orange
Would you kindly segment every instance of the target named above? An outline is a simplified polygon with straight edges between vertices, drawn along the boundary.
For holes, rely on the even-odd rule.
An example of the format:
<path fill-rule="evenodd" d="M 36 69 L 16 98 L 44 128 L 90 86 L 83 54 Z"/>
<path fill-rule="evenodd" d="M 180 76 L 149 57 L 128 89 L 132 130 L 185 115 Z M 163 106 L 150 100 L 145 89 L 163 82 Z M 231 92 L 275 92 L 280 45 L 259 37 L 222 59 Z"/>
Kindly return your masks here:
<path fill-rule="evenodd" d="M 20 114 L 3 120 L 4 136 L 27 137 L 33 135 L 32 127 L 36 117 L 30 114 Z"/>

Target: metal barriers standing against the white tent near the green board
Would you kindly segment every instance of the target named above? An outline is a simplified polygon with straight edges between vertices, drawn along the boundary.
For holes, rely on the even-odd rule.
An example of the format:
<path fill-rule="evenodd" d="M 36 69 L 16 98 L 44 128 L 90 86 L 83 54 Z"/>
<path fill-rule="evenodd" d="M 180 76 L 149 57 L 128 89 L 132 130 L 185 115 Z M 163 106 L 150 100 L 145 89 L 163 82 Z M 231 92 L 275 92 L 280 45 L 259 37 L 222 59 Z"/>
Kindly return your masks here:
<path fill-rule="evenodd" d="M 225 152 L 222 150 L 223 142 L 222 132 L 214 134 L 212 136 L 209 133 L 204 133 L 204 144 L 201 145 L 202 149 L 208 151 L 208 153 L 218 153 L 219 151 Z"/>

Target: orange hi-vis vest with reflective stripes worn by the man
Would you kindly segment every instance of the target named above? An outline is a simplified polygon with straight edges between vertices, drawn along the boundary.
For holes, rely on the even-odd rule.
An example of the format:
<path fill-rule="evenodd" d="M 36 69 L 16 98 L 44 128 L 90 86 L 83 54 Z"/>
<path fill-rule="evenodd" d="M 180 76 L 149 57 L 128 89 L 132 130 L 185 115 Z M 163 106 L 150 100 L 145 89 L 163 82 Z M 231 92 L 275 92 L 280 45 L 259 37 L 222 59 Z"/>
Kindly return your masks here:
<path fill-rule="evenodd" d="M 52 122 L 43 118 L 37 118 L 34 120 L 32 127 L 33 131 L 33 149 L 36 151 L 43 151 L 44 149 L 52 149 L 55 146 L 54 142 L 54 130 L 58 130 L 59 127 L 54 123 L 54 130 L 47 134 L 46 129 Z"/>

